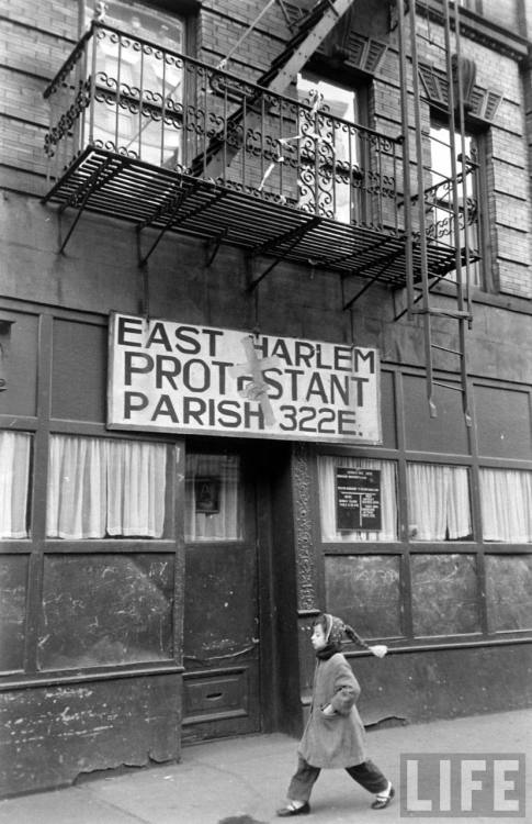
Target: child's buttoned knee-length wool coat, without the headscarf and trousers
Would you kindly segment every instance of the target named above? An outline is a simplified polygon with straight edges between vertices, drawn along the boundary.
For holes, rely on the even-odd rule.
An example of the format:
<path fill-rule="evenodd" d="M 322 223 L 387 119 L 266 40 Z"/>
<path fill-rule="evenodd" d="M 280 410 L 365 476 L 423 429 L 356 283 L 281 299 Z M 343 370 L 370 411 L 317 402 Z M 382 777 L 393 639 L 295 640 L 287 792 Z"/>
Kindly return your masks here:
<path fill-rule="evenodd" d="M 341 653 L 316 665 L 313 702 L 299 755 L 313 767 L 354 767 L 367 760 L 364 726 L 355 701 L 360 686 Z M 328 704 L 333 715 L 326 715 Z"/>

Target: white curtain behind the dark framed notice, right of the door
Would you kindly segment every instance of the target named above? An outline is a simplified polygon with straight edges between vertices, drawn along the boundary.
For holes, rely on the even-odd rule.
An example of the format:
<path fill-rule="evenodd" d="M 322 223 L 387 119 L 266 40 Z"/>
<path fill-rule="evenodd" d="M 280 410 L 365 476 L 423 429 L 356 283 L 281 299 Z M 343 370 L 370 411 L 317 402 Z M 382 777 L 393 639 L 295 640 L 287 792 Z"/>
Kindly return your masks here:
<path fill-rule="evenodd" d="M 337 532 L 336 526 L 336 469 L 360 467 L 381 470 L 382 530 L 380 532 Z M 321 455 L 318 458 L 319 510 L 322 541 L 397 541 L 397 483 L 396 465 L 392 460 L 349 458 Z"/>

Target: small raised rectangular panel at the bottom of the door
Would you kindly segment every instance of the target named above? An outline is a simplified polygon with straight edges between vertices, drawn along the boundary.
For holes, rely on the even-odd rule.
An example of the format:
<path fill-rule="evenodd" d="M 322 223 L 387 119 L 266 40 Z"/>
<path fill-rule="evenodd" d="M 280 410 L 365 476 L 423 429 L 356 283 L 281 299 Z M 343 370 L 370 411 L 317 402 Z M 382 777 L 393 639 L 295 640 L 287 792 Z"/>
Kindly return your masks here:
<path fill-rule="evenodd" d="M 246 715 L 248 670 L 185 676 L 183 724 Z"/>

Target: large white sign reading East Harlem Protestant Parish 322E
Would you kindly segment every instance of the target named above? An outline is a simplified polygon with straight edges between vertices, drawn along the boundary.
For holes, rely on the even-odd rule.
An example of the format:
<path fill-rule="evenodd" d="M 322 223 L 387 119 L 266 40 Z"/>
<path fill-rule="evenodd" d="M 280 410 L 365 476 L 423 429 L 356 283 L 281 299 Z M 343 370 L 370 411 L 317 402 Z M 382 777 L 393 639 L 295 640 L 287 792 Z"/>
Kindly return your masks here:
<path fill-rule="evenodd" d="M 381 442 L 376 349 L 113 313 L 115 428 Z"/>

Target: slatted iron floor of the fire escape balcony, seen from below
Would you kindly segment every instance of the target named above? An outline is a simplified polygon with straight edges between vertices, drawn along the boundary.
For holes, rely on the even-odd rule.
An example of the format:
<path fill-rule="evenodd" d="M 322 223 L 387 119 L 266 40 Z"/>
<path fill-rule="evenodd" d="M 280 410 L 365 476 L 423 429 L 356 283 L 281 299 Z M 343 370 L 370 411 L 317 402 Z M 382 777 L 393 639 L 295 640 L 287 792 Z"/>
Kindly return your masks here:
<path fill-rule="evenodd" d="M 259 190 L 205 180 L 88 146 L 53 186 L 45 202 L 133 222 L 138 229 L 171 231 L 223 242 L 250 255 L 358 276 L 390 288 L 406 285 L 403 233 L 340 223 L 281 202 Z M 428 249 L 429 269 L 444 277 L 454 250 Z M 414 276 L 420 271 L 414 247 Z"/>

